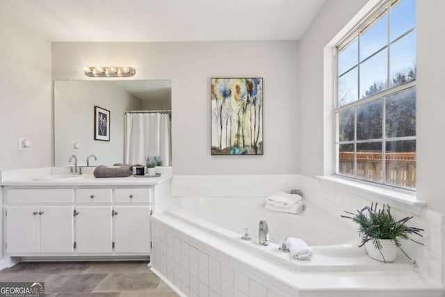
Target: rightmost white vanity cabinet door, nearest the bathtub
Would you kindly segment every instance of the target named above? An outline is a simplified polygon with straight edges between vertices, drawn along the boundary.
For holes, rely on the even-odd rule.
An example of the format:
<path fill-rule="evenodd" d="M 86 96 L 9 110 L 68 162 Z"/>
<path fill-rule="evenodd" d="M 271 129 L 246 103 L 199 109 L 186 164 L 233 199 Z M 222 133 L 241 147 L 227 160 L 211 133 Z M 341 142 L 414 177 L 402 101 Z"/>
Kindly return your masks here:
<path fill-rule="evenodd" d="M 150 207 L 115 207 L 115 252 L 150 252 Z"/>

